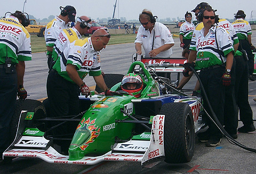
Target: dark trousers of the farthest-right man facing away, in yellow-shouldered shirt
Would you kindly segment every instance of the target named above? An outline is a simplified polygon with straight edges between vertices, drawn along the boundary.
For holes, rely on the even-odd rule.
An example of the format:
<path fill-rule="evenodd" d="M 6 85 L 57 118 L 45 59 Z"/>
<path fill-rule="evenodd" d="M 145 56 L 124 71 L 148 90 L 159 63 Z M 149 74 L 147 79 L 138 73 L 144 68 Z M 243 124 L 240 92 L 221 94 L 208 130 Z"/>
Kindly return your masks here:
<path fill-rule="evenodd" d="M 251 46 L 250 46 L 248 40 L 246 40 L 246 39 L 240 40 L 239 39 L 238 50 L 241 51 L 242 48 L 246 51 L 248 59 L 249 59 L 247 61 L 248 70 L 249 70 L 248 73 L 249 73 L 249 75 L 252 75 L 252 73 L 254 71 L 254 57 L 253 57 L 252 49 L 251 49 Z M 248 74 L 247 74 L 247 76 L 248 76 Z"/>

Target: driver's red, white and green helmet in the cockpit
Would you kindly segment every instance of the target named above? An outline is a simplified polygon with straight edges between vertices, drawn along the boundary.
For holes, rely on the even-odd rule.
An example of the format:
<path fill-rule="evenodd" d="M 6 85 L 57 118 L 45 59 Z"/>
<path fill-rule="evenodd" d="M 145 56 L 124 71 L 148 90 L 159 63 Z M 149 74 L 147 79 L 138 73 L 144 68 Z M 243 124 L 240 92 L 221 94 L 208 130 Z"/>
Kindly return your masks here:
<path fill-rule="evenodd" d="M 142 78 L 135 73 L 126 74 L 122 79 L 121 88 L 134 97 L 140 97 L 143 88 Z"/>

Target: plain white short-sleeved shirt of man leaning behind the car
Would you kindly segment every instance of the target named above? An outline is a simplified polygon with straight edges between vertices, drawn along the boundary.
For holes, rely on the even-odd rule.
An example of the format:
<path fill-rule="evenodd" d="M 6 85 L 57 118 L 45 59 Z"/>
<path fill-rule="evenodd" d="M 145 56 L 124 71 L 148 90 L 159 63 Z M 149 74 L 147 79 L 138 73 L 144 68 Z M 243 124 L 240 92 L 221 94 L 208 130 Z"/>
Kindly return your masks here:
<path fill-rule="evenodd" d="M 152 50 L 153 38 L 154 38 L 153 49 L 159 48 L 165 44 L 174 44 L 174 40 L 172 38 L 171 32 L 164 24 L 155 22 L 155 26 L 151 31 L 151 34 L 149 30 L 145 30 L 143 26 L 140 26 L 134 43 L 142 44 L 146 57 L 150 57 L 149 52 Z M 166 51 L 160 52 L 155 57 L 170 57 L 171 55 L 172 55 L 172 48 Z"/>

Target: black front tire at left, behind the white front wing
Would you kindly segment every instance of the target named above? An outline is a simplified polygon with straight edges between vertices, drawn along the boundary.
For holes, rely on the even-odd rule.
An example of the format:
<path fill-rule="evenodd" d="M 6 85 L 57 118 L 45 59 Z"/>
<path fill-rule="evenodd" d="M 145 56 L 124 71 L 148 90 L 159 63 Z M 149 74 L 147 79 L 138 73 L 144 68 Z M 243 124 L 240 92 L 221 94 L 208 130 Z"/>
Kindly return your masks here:
<path fill-rule="evenodd" d="M 34 112 L 33 119 L 28 120 L 26 127 L 32 128 L 38 124 L 38 122 L 35 121 L 35 119 L 41 119 L 46 117 L 45 107 L 41 102 L 37 100 L 31 100 L 31 99 L 17 100 L 12 121 L 10 123 L 10 142 L 11 143 L 13 142 L 16 136 L 18 123 L 20 119 L 20 113 L 22 110 L 26 110 L 28 112 Z M 44 126 L 38 126 L 37 128 L 41 131 L 44 131 Z"/>

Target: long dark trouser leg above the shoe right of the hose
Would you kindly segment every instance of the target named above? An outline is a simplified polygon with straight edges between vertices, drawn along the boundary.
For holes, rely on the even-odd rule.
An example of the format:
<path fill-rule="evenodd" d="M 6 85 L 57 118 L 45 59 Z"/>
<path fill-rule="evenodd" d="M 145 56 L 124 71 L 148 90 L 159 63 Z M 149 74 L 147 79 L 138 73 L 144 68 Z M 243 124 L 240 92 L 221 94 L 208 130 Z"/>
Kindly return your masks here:
<path fill-rule="evenodd" d="M 243 56 L 235 56 L 236 60 L 236 83 L 235 96 L 240 113 L 240 120 L 245 126 L 253 122 L 252 109 L 248 102 L 248 64 Z"/>

